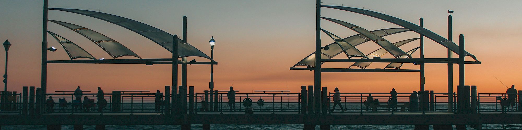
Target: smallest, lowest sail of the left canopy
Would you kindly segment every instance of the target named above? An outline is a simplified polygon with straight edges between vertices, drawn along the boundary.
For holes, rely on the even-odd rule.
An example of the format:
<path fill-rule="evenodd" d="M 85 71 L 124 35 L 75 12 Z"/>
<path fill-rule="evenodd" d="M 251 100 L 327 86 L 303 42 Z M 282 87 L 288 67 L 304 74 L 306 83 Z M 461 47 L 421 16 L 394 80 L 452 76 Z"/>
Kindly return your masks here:
<path fill-rule="evenodd" d="M 96 59 L 91 54 L 87 53 L 87 51 L 85 51 L 83 48 L 67 40 L 66 38 L 51 31 L 47 32 L 51 34 L 56 39 L 56 41 L 58 41 L 58 43 L 62 45 L 62 47 L 64 47 L 65 52 L 67 52 L 67 55 L 69 55 L 69 58 L 71 60 L 78 58 Z"/>

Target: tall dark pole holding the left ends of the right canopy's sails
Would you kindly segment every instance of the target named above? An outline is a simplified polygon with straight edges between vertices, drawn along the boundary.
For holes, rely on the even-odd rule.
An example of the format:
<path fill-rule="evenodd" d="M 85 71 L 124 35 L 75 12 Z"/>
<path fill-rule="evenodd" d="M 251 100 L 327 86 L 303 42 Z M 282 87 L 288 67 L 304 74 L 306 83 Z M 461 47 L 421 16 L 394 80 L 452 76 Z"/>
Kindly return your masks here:
<path fill-rule="evenodd" d="M 315 69 L 314 86 L 321 87 L 321 0 L 317 0 L 315 12 Z"/>

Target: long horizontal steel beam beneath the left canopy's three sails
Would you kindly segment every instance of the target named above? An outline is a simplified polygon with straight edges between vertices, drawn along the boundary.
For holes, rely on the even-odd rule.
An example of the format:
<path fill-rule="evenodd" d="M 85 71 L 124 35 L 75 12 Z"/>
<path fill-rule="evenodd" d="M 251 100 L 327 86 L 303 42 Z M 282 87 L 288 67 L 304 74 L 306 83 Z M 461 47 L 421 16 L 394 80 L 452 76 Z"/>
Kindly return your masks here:
<path fill-rule="evenodd" d="M 190 62 L 181 61 L 187 64 L 218 64 L 218 62 Z M 172 64 L 172 58 L 159 59 L 104 59 L 104 60 L 48 60 L 47 63 L 102 63 L 102 64 Z"/>

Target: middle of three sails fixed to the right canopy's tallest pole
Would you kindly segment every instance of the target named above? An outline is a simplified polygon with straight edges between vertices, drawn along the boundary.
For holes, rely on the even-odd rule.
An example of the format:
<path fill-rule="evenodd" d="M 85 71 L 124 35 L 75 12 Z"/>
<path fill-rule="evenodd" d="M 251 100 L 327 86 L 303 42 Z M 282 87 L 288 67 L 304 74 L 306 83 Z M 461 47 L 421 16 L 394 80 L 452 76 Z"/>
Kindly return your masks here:
<path fill-rule="evenodd" d="M 337 24 L 340 24 L 348 29 L 351 29 L 361 35 L 364 35 L 364 36 L 370 38 L 370 40 L 377 43 L 379 46 L 383 47 L 386 51 L 388 51 L 390 54 L 392 54 L 395 58 L 398 58 L 402 55 L 408 55 L 404 51 L 399 49 L 397 46 L 394 46 L 394 45 L 392 45 L 392 43 L 385 40 L 383 37 L 378 36 L 377 34 L 374 34 L 364 28 L 358 27 L 357 25 L 354 25 L 354 24 L 351 24 L 351 23 L 348 23 L 345 21 L 337 20 L 337 19 L 331 19 L 331 18 L 325 18 L 325 17 L 321 17 L 321 18 L 326 19 L 328 21 L 335 22 Z M 411 57 L 411 56 L 409 56 L 409 57 Z"/>

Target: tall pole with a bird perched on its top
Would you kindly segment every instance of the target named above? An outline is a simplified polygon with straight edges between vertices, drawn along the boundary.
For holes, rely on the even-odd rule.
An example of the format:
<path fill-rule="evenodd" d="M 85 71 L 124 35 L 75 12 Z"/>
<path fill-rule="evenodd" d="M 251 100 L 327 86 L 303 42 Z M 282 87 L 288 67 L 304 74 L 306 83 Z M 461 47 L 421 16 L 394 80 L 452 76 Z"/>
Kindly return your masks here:
<path fill-rule="evenodd" d="M 452 15 L 448 15 L 448 40 L 453 41 Z M 452 58 L 452 50 L 448 48 L 448 58 Z M 453 111 L 453 63 L 448 63 L 448 112 Z"/>

